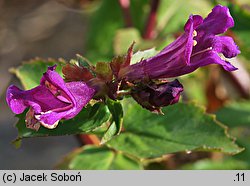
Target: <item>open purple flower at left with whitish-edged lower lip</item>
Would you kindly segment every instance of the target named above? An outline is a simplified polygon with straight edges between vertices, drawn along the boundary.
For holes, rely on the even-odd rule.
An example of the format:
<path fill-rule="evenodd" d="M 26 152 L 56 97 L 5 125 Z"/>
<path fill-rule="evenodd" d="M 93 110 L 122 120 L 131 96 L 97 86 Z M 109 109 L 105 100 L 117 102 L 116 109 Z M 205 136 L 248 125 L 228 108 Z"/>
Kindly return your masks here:
<path fill-rule="evenodd" d="M 40 124 L 55 128 L 59 120 L 76 116 L 95 93 L 83 82 L 65 83 L 55 68 L 48 67 L 40 85 L 31 90 L 20 90 L 14 85 L 7 90 L 6 101 L 14 113 L 20 114 L 30 107 L 26 115 L 29 128 L 38 130 Z"/>

